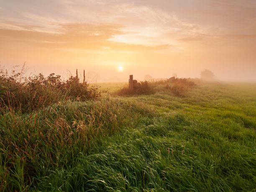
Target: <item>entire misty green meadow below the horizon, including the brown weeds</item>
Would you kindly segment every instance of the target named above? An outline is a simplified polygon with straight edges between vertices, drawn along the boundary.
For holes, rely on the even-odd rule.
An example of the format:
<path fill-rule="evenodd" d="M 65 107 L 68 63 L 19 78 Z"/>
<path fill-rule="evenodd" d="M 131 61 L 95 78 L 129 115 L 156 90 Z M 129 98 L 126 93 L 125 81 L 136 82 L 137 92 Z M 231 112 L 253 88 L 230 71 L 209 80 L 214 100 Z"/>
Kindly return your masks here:
<path fill-rule="evenodd" d="M 0 191 L 256 191 L 256 83 L 127 92 L 13 75 L 0 79 Z"/>

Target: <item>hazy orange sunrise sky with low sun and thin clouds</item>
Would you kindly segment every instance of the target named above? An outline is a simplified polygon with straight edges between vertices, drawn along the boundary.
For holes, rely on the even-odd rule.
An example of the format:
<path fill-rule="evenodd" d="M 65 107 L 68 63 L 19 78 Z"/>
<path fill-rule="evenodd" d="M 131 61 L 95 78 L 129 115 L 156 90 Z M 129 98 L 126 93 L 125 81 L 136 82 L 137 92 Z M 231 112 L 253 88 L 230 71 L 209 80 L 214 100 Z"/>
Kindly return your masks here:
<path fill-rule="evenodd" d="M 0 65 L 97 82 L 256 81 L 256 0 L 0 0 Z"/>

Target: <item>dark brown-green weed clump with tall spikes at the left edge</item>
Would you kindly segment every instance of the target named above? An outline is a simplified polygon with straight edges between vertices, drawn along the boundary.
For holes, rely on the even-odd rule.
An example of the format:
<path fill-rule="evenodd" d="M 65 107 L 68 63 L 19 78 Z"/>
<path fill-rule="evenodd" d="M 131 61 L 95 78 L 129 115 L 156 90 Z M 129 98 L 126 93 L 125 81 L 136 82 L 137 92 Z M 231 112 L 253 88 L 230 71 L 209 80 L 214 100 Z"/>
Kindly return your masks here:
<path fill-rule="evenodd" d="M 80 80 L 78 75 L 70 76 L 64 81 L 60 75 L 54 73 L 48 77 L 44 77 L 41 73 L 23 77 L 24 73 L 24 65 L 21 72 L 0 69 L 2 107 L 31 111 L 66 99 L 85 101 L 98 98 L 105 92 L 99 91 L 99 87 L 90 86 L 85 79 Z"/>

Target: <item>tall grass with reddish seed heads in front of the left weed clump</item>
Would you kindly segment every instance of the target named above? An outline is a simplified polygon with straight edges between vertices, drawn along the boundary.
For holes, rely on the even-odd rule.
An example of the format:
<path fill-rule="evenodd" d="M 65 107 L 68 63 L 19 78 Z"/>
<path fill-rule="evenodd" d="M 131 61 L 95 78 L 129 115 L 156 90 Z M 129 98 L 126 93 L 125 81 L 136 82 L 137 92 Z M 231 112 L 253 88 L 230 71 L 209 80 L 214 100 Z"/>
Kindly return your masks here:
<path fill-rule="evenodd" d="M 3 110 L 2 191 L 23 191 L 38 185 L 41 177 L 51 171 L 68 169 L 79 154 L 89 153 L 120 129 L 138 126 L 141 115 L 151 113 L 139 109 L 131 103 L 108 98 L 60 102 L 30 114 Z"/>

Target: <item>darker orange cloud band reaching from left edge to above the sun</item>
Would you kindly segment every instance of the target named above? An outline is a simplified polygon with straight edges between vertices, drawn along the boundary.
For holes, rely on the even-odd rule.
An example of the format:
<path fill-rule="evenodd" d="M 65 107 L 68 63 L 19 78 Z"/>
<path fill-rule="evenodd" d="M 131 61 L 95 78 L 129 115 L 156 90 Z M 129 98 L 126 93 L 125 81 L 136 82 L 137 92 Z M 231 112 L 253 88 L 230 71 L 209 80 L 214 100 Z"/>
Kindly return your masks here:
<path fill-rule="evenodd" d="M 17 25 L 16 25 L 17 26 Z M 70 23 L 58 24 L 56 33 L 45 33 L 43 27 L 18 25 L 20 30 L 0 29 L 1 42 L 26 43 L 36 47 L 48 49 L 83 49 L 99 50 L 108 47 L 113 51 L 149 51 L 168 49 L 169 44 L 145 46 L 140 44 L 125 44 L 110 41 L 115 35 L 122 35 L 121 25 Z M 39 30 L 38 30 L 39 29 Z"/>

